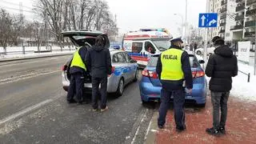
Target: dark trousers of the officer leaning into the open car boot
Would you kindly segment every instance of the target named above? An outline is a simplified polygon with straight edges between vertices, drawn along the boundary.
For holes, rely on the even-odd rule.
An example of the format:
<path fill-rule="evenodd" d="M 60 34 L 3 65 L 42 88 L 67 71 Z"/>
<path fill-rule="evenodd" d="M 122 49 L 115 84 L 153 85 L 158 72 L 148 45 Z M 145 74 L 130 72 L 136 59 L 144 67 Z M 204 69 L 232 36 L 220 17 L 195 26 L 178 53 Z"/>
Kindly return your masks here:
<path fill-rule="evenodd" d="M 76 96 L 78 102 L 82 102 L 83 87 L 84 87 L 84 75 L 82 73 L 71 74 L 70 87 L 67 93 L 67 101 L 71 101 Z"/>

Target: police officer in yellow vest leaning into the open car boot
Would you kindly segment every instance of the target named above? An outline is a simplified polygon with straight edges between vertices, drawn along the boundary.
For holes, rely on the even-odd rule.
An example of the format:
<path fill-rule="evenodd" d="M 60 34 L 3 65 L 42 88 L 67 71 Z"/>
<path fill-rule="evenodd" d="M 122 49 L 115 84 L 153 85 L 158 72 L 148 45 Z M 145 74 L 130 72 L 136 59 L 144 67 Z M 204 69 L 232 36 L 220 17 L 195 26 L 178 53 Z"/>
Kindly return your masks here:
<path fill-rule="evenodd" d="M 74 52 L 74 56 L 70 66 L 70 86 L 67 93 L 67 102 L 78 102 L 82 104 L 83 101 L 83 87 L 86 75 L 86 46 L 79 47 Z M 74 95 L 76 99 L 74 100 Z"/>

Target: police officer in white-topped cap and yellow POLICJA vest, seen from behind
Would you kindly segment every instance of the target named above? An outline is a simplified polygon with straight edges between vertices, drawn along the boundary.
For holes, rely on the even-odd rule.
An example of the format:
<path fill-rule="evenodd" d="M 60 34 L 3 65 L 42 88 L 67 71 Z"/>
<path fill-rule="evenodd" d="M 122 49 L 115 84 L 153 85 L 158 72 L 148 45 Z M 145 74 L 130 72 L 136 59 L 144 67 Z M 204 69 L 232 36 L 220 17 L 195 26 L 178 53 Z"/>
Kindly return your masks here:
<path fill-rule="evenodd" d="M 170 108 L 171 97 L 174 98 L 174 119 L 176 130 L 186 130 L 185 125 L 185 87 L 191 93 L 193 88 L 189 54 L 182 50 L 182 39 L 171 40 L 169 50 L 162 52 L 158 58 L 157 73 L 162 83 L 161 104 L 159 108 L 158 127 L 164 128 L 166 113 Z"/>

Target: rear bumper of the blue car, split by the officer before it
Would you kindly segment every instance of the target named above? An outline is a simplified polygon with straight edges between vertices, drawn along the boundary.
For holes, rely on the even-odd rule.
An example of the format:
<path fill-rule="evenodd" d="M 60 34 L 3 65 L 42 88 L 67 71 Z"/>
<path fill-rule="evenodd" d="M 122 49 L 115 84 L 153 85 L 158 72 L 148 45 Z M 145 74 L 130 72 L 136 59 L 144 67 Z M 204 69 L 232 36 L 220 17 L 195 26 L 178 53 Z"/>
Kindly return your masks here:
<path fill-rule="evenodd" d="M 160 101 L 161 86 L 153 86 L 150 82 L 140 82 L 139 84 L 141 99 L 144 102 Z M 206 90 L 202 84 L 194 85 L 192 94 L 186 94 L 186 102 L 196 104 L 206 103 Z"/>

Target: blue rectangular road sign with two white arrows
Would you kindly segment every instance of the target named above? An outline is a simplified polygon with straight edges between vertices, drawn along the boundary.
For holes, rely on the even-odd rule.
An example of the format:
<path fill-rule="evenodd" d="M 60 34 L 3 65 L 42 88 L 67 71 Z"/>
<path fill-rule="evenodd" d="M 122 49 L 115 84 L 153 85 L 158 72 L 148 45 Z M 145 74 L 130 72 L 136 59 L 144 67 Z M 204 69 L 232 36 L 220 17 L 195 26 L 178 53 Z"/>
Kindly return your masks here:
<path fill-rule="evenodd" d="M 218 23 L 217 13 L 199 14 L 198 27 L 217 27 L 217 23 Z"/>

